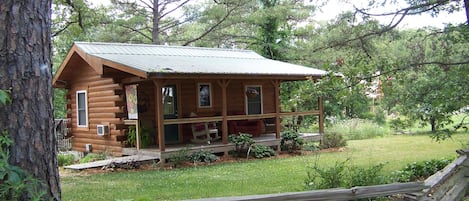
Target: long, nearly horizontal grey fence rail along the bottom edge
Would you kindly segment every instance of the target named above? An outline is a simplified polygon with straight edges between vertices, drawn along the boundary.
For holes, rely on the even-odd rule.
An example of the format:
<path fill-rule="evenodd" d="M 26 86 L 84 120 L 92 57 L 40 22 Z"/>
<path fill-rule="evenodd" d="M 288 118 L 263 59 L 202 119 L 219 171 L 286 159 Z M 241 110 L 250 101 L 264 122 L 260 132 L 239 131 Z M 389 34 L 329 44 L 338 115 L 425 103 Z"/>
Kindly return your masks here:
<path fill-rule="evenodd" d="M 238 197 L 208 198 L 205 201 L 221 200 L 355 200 L 362 198 L 381 197 L 401 193 L 422 191 L 425 188 L 422 182 L 394 183 L 376 186 L 353 187 L 350 189 L 327 189 L 306 192 L 290 192 L 266 195 L 251 195 Z"/>

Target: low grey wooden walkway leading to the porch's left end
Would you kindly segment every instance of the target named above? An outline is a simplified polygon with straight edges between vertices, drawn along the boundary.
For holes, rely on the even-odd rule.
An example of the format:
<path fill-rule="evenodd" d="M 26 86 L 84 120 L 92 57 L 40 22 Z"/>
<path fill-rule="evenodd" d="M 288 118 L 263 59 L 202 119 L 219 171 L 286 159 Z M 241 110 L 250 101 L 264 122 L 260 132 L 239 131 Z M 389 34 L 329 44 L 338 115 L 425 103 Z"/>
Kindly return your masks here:
<path fill-rule="evenodd" d="M 94 162 L 83 163 L 83 164 L 74 164 L 74 165 L 65 166 L 64 168 L 71 169 L 71 170 L 84 170 L 84 169 L 89 169 L 89 168 L 104 167 L 111 163 L 126 164 L 129 162 L 145 162 L 145 161 L 154 161 L 154 160 L 159 160 L 159 159 L 160 159 L 159 157 L 155 157 L 155 156 L 132 155 L 132 156 L 124 156 L 124 157 L 112 158 L 112 159 L 101 160 L 101 161 L 94 161 Z"/>

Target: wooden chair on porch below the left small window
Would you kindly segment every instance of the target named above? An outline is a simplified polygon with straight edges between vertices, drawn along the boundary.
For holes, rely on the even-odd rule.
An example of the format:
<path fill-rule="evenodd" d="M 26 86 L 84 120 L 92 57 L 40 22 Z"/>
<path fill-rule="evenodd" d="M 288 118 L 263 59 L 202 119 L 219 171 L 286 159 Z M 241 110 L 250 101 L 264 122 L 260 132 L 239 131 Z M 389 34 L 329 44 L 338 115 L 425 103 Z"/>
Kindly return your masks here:
<path fill-rule="evenodd" d="M 195 113 L 191 113 L 191 117 L 197 117 Z M 194 143 L 210 143 L 210 141 L 221 139 L 218 135 L 218 128 L 214 122 L 193 123 L 192 139 Z"/>

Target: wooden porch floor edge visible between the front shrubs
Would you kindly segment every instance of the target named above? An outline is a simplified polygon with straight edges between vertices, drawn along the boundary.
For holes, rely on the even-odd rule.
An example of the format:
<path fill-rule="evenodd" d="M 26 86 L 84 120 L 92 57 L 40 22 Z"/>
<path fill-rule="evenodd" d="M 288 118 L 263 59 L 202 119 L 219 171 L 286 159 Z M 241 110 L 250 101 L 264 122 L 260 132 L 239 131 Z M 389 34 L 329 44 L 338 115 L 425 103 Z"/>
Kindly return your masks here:
<path fill-rule="evenodd" d="M 321 134 L 319 133 L 301 133 L 301 138 L 305 141 L 320 141 Z M 275 133 L 263 134 L 260 137 L 253 138 L 256 144 L 263 144 L 267 146 L 280 146 L 280 140 L 275 138 Z M 205 143 L 188 143 L 188 144 L 173 144 L 166 145 L 166 150 L 161 152 L 158 147 L 150 147 L 137 150 L 135 147 L 132 148 L 122 148 L 122 155 L 145 155 L 152 156 L 159 159 L 167 159 L 172 155 L 177 154 L 180 150 L 187 149 L 189 153 L 196 152 L 199 150 L 208 150 L 212 153 L 226 153 L 234 149 L 234 144 L 228 143 L 223 144 L 221 140 L 213 141 L 210 144 Z"/>

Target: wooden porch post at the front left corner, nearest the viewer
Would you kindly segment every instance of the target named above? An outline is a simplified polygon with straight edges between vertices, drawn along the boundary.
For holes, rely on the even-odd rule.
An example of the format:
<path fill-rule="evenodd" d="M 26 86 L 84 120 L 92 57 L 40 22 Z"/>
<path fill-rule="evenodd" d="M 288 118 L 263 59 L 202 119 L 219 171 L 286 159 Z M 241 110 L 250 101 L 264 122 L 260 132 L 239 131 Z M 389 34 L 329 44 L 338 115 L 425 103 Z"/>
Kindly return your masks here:
<path fill-rule="evenodd" d="M 156 135 L 158 140 L 158 147 L 161 152 L 165 151 L 164 144 L 164 114 L 163 114 L 163 83 L 161 81 L 153 80 L 155 85 L 155 122 L 156 122 Z"/>

